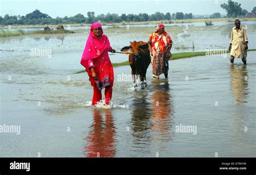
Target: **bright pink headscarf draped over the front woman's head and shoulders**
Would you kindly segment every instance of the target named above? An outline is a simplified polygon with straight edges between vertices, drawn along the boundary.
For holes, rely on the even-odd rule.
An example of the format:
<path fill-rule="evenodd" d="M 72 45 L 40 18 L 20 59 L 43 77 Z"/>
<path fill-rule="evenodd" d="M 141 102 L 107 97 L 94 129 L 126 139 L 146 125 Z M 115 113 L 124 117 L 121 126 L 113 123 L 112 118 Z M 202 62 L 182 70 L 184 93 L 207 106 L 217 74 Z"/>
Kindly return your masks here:
<path fill-rule="evenodd" d="M 87 61 L 89 59 L 99 58 L 100 55 L 102 55 L 102 53 L 110 47 L 109 39 L 107 39 L 107 36 L 105 36 L 105 34 L 102 34 L 102 37 L 97 37 L 94 36 L 94 34 L 92 33 L 92 30 L 98 27 L 102 29 L 102 25 L 100 25 L 99 23 L 93 23 L 91 25 L 91 30 L 87 38 L 84 52 L 80 61 L 80 63 L 86 68 L 86 71 L 89 70 L 87 67 Z"/>

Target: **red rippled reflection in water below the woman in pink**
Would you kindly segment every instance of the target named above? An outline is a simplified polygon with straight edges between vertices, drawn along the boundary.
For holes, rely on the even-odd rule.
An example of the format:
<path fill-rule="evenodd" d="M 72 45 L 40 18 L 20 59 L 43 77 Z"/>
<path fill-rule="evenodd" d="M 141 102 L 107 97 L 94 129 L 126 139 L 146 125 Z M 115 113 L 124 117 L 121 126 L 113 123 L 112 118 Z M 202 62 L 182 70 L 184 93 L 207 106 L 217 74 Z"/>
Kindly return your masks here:
<path fill-rule="evenodd" d="M 86 137 L 84 155 L 86 157 L 114 157 L 116 146 L 114 126 L 111 109 L 93 109 L 93 124 L 89 135 Z"/>

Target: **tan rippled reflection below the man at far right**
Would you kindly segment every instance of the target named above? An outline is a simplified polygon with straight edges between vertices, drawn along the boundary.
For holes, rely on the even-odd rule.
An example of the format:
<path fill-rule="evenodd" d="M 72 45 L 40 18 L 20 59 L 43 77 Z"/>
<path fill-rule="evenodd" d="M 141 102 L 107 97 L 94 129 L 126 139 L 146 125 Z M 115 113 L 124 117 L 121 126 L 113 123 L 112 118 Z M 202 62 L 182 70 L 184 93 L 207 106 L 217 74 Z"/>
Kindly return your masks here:
<path fill-rule="evenodd" d="M 234 97 L 234 104 L 247 103 L 248 75 L 246 65 L 242 67 L 230 66 L 231 89 Z"/>

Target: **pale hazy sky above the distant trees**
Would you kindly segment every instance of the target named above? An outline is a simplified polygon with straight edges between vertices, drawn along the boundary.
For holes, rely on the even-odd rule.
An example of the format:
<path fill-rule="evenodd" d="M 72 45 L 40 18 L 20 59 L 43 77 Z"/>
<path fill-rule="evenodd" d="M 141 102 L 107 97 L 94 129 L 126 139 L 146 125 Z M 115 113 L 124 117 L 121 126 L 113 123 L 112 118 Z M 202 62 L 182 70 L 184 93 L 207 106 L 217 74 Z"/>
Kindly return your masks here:
<path fill-rule="evenodd" d="M 255 0 L 233 0 L 241 4 L 242 9 L 251 12 L 256 3 Z M 0 16 L 5 14 L 25 16 L 35 9 L 48 14 L 52 18 L 74 16 L 82 13 L 87 17 L 88 11 L 94 11 L 95 15 L 118 13 L 147 13 L 152 14 L 157 11 L 166 13 L 193 13 L 193 15 L 211 15 L 220 12 L 225 15 L 225 10 L 220 8 L 220 4 L 227 3 L 227 0 L 27 0 L 13 1 L 0 0 Z"/>

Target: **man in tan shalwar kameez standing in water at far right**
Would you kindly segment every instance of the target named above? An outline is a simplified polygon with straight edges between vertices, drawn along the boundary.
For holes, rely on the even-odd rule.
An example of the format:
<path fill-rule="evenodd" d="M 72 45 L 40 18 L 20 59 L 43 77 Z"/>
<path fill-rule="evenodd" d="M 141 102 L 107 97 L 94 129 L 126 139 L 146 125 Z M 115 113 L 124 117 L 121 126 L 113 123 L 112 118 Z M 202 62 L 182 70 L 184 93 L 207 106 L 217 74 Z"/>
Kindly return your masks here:
<path fill-rule="evenodd" d="M 235 19 L 235 27 L 231 31 L 230 46 L 228 50 L 231 50 L 230 53 L 230 62 L 233 64 L 234 58 L 241 58 L 244 65 L 246 65 L 247 49 L 248 49 L 248 40 L 246 35 L 246 30 L 244 27 L 240 28 L 240 20 Z"/>

